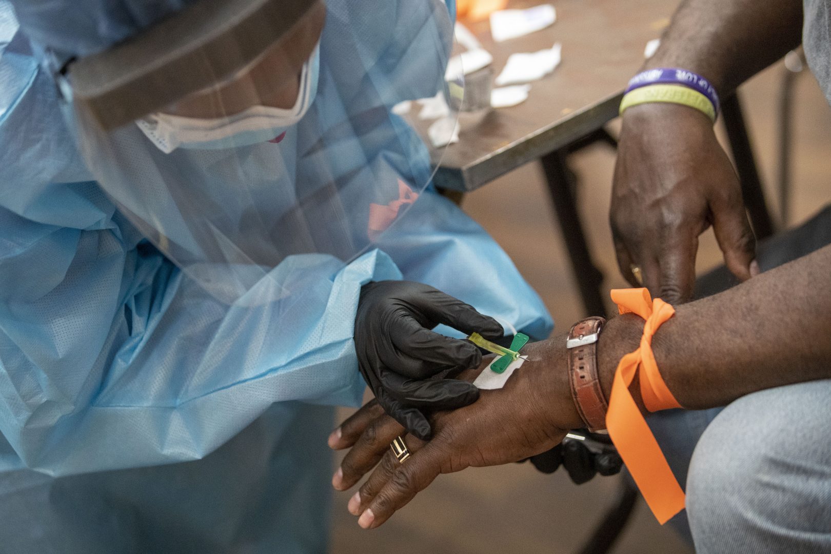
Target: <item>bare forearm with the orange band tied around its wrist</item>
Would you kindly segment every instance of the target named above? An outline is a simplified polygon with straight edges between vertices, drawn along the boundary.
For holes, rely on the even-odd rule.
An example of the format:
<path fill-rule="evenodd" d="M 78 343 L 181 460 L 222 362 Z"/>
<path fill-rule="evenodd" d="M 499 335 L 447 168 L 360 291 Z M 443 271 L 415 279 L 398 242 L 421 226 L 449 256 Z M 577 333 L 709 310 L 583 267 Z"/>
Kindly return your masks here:
<path fill-rule="evenodd" d="M 607 395 L 617 360 L 635 350 L 642 328 L 643 321 L 630 315 L 613 319 L 602 332 L 598 361 Z M 657 331 L 652 351 L 666 385 L 690 409 L 831 378 L 831 246 L 677 306 Z"/>

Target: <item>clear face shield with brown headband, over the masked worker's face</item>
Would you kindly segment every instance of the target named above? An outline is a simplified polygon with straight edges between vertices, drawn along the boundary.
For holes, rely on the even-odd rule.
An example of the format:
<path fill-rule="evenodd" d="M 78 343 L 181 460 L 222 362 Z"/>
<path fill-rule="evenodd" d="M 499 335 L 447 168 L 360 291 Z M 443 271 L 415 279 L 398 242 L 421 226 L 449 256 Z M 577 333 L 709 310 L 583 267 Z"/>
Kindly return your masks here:
<path fill-rule="evenodd" d="M 200 0 L 59 78 L 106 194 L 220 302 L 360 256 L 440 158 L 392 107 L 461 90 L 444 0 L 334 3 Z"/>

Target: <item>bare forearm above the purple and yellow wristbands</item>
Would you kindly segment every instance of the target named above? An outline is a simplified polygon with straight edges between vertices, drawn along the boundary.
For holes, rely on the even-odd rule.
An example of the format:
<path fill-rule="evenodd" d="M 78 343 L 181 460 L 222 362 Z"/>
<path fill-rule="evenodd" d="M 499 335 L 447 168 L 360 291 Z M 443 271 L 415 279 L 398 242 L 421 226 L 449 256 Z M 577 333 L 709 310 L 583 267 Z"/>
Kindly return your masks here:
<path fill-rule="evenodd" d="M 799 46 L 801 33 L 801 0 L 686 0 L 647 67 L 696 71 L 726 95 Z"/>

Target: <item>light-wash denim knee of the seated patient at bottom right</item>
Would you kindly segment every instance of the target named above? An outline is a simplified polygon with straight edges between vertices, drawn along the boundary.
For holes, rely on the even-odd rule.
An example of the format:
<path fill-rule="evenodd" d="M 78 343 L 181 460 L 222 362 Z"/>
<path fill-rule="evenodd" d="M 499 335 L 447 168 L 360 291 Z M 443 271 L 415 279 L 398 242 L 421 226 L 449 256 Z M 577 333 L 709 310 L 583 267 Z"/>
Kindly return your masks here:
<path fill-rule="evenodd" d="M 686 479 L 696 552 L 831 552 L 829 425 L 831 380 L 762 390 L 722 410 Z"/>

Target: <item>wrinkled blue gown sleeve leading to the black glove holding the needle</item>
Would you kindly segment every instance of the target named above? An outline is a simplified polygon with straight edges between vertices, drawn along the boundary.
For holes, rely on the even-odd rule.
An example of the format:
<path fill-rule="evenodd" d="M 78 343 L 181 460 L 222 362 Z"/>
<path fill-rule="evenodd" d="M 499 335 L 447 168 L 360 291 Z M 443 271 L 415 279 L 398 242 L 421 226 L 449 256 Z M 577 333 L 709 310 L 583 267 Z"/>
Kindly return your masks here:
<path fill-rule="evenodd" d="M 385 254 L 347 267 L 287 258 L 273 282 L 302 278 L 309 294 L 278 317 L 268 303 L 220 304 L 124 235 L 0 209 L 7 467 L 64 475 L 202 458 L 274 402 L 360 402 L 354 314 L 363 283 L 401 277 Z"/>

